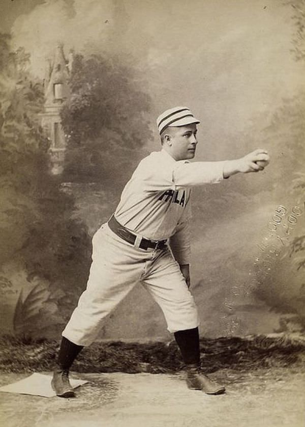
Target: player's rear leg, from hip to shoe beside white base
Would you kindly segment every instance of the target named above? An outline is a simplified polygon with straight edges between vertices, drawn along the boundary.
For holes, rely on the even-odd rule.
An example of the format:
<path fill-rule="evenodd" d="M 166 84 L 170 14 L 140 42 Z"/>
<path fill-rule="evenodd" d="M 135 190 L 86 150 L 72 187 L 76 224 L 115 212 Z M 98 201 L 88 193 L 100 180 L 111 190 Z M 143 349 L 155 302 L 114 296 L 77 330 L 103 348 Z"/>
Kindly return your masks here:
<path fill-rule="evenodd" d="M 143 262 L 135 249 L 104 225 L 93 238 L 93 262 L 87 288 L 63 331 L 52 386 L 60 397 L 74 395 L 69 369 L 83 346 L 98 336 L 102 322 L 139 280 Z M 149 254 L 142 253 L 142 257 Z"/>

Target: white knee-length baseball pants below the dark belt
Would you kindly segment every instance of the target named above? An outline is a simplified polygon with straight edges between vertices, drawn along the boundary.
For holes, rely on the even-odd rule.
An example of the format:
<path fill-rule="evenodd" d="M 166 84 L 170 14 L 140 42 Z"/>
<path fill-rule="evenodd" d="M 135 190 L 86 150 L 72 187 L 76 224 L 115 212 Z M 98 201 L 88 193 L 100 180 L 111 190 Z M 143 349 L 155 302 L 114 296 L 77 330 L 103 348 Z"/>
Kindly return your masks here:
<path fill-rule="evenodd" d="M 86 290 L 62 334 L 70 341 L 90 345 L 102 321 L 138 281 L 161 307 L 170 332 L 198 326 L 193 297 L 168 247 L 135 248 L 106 223 L 93 236 L 92 260 Z"/>

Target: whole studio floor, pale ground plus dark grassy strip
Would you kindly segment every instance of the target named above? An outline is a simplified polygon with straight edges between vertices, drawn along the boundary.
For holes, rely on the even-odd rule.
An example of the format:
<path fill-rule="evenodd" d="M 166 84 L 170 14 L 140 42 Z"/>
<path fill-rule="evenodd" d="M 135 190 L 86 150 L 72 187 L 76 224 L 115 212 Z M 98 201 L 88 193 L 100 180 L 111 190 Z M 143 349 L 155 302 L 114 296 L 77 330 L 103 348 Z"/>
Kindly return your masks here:
<path fill-rule="evenodd" d="M 58 344 L 3 337 L 0 385 L 33 371 L 51 375 Z M 303 427 L 305 341 L 301 336 L 201 339 L 201 363 L 226 393 L 189 390 L 174 342 L 95 343 L 72 377 L 77 398 L 0 393 L 6 427 Z M 132 373 L 133 375 L 130 375 Z"/>

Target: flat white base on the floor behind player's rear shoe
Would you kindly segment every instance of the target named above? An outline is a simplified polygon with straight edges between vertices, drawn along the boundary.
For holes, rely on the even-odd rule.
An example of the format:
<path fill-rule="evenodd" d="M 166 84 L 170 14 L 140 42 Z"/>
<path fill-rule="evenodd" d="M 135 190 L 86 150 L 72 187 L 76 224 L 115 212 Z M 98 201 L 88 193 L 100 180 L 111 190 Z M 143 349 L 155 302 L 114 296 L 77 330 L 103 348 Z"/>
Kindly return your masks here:
<path fill-rule="evenodd" d="M 42 373 L 33 373 L 33 375 L 24 378 L 24 380 L 17 381 L 16 383 L 9 384 L 8 386 L 0 387 L 0 391 L 7 393 L 20 393 L 20 394 L 32 394 L 34 396 L 53 397 L 56 393 L 51 387 L 51 379 L 49 375 L 43 375 Z M 70 378 L 70 383 L 73 388 L 79 387 L 82 384 L 87 383 L 84 380 L 73 380 Z"/>

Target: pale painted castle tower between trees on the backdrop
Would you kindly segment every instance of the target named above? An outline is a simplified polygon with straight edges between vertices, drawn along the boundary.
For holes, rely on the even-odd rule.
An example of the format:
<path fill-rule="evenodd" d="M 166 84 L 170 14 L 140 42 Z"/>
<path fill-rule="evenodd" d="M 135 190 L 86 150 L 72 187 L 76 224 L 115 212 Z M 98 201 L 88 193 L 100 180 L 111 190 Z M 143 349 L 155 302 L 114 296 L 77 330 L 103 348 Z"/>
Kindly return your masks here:
<path fill-rule="evenodd" d="M 49 63 L 47 75 L 44 81 L 45 108 L 41 114 L 42 127 L 46 130 L 50 139 L 50 156 L 52 173 L 59 174 L 63 171 L 66 139 L 65 132 L 60 122 L 60 110 L 63 103 L 70 96 L 69 75 L 73 61 L 73 52 L 69 54 L 69 61 L 64 55 L 62 44 L 58 44 L 55 50 L 54 61 Z"/>

